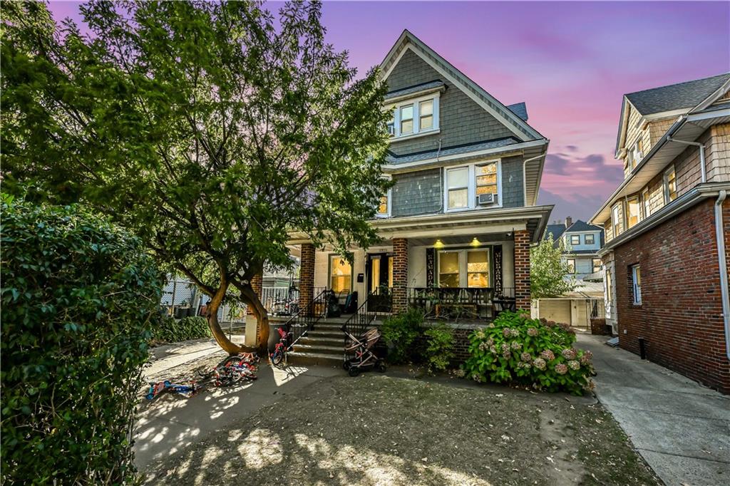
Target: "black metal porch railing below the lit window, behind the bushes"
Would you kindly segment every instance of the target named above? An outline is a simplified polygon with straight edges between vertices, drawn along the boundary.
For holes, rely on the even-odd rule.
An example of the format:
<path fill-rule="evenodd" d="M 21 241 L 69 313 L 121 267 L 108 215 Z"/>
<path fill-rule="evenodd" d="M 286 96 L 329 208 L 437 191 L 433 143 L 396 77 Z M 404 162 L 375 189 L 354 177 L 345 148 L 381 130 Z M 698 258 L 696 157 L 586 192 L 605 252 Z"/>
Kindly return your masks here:
<path fill-rule="evenodd" d="M 502 288 L 495 295 L 493 288 L 407 288 L 409 309 L 420 309 L 426 318 L 446 320 L 493 319 L 499 312 L 515 310 L 515 289 Z"/>

